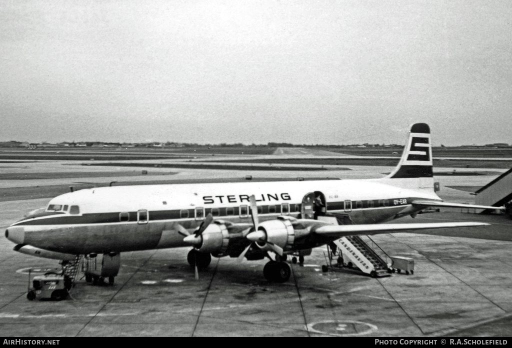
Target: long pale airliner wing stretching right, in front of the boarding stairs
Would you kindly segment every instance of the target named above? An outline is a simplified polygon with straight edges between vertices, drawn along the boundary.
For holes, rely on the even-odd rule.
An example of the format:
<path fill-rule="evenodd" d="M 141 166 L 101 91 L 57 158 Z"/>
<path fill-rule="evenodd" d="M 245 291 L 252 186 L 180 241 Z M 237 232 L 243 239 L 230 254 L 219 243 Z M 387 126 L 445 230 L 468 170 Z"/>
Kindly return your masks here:
<path fill-rule="evenodd" d="M 325 225 L 314 228 L 312 232 L 328 237 L 345 237 L 359 234 L 381 234 L 404 232 L 413 230 L 433 230 L 454 227 L 475 227 L 487 226 L 483 222 L 437 222 L 437 223 L 384 223 L 384 224 L 361 224 L 361 225 Z"/>

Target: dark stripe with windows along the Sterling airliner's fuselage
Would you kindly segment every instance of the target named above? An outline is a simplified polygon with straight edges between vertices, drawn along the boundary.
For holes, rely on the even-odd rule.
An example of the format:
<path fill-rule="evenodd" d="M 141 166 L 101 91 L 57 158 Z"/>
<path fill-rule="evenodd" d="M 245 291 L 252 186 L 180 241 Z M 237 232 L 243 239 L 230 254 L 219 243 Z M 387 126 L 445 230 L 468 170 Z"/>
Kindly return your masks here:
<path fill-rule="evenodd" d="M 411 204 L 414 198 L 396 198 L 396 199 L 374 199 L 374 200 L 354 200 L 351 210 L 365 210 L 377 208 L 392 208 L 406 206 Z M 258 206 L 260 214 L 297 214 L 301 212 L 301 204 L 287 204 L 288 212 L 282 211 L 282 204 L 269 204 L 267 206 Z M 248 206 L 241 211 L 240 206 L 227 208 L 205 208 L 204 215 L 212 214 L 214 218 L 236 218 L 250 215 Z M 327 212 L 345 210 L 345 201 L 329 202 Z M 242 213 L 242 214 L 241 214 Z M 54 214 L 52 214 L 54 215 Z M 178 219 L 196 219 L 195 209 L 182 210 L 159 210 L 148 213 L 149 221 L 178 220 Z M 202 216 L 202 217 L 203 217 Z M 129 217 L 126 219 L 126 217 Z M 197 220 L 202 220 L 198 217 Z M 137 212 L 119 212 L 119 213 L 92 213 L 82 215 L 62 215 L 55 214 L 55 217 L 42 219 L 30 219 L 18 221 L 16 226 L 43 226 L 43 225 L 71 225 L 71 224 L 97 224 L 97 223 L 119 223 L 119 222 L 137 222 Z"/>

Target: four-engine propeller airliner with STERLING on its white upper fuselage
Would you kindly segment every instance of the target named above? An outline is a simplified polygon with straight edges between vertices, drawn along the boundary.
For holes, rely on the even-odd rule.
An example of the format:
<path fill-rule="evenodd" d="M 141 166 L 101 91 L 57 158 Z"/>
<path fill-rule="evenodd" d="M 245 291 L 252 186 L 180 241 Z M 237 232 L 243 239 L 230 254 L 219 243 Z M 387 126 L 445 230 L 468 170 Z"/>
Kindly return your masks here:
<path fill-rule="evenodd" d="M 117 186 L 53 198 L 45 212 L 12 224 L 15 251 L 60 260 L 103 253 L 117 275 L 121 252 L 191 246 L 188 262 L 258 260 L 284 282 L 284 255 L 344 236 L 483 226 L 478 222 L 383 223 L 429 207 L 499 209 L 446 203 L 434 193 L 430 128 L 415 124 L 395 170 L 381 179 Z M 347 219 L 348 217 L 348 219 Z M 344 221 L 349 221 L 349 224 Z M 344 224 L 345 223 L 345 224 Z M 113 277 L 110 279 L 113 282 Z"/>

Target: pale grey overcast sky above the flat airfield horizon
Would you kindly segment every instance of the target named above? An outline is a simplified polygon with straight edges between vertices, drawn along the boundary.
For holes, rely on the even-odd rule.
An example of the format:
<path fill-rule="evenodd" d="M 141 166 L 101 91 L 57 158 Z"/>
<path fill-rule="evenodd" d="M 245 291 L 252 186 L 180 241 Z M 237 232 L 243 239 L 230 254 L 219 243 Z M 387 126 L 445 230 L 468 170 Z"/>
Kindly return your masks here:
<path fill-rule="evenodd" d="M 510 0 L 0 2 L 0 141 L 512 143 Z"/>

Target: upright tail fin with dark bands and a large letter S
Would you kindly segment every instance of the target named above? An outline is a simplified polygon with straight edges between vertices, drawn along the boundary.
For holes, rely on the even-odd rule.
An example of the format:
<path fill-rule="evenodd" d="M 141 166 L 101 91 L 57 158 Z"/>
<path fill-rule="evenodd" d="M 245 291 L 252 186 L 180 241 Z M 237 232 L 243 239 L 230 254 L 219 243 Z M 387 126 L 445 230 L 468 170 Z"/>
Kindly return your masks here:
<path fill-rule="evenodd" d="M 390 175 L 381 180 L 396 187 L 434 191 L 429 125 L 417 123 L 411 127 L 398 165 Z"/>

